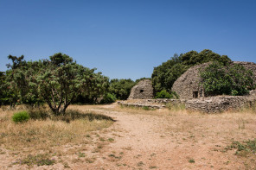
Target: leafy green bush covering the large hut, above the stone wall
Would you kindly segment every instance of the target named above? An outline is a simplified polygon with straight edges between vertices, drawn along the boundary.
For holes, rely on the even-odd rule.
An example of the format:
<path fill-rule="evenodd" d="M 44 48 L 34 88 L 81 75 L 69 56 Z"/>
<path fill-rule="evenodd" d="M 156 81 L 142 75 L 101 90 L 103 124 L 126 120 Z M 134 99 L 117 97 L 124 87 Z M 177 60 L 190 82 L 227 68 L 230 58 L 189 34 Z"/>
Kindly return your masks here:
<path fill-rule="evenodd" d="M 207 96 L 239 96 L 255 89 L 253 72 L 237 64 L 223 66 L 214 62 L 201 72 L 201 78 Z"/>

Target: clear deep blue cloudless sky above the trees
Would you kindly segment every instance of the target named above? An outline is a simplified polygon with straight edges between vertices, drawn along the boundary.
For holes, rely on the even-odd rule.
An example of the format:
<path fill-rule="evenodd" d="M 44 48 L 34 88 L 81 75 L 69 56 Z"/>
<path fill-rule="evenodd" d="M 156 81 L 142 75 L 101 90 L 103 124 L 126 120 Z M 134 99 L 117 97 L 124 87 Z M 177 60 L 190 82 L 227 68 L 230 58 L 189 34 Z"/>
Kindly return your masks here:
<path fill-rule="evenodd" d="M 0 0 L 1 71 L 9 54 L 61 52 L 111 79 L 139 79 L 203 49 L 256 62 L 256 1 Z"/>

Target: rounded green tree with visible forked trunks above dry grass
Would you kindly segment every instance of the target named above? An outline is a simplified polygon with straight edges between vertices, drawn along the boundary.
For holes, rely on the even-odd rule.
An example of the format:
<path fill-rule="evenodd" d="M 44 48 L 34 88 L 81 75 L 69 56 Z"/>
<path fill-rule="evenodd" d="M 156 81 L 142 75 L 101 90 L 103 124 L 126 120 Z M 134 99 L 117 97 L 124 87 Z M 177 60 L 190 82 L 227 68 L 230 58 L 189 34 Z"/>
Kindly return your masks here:
<path fill-rule="evenodd" d="M 71 57 L 61 53 L 42 63 L 36 75 L 38 90 L 54 115 L 64 115 L 81 88 L 86 88 L 94 70 L 76 64 Z"/>

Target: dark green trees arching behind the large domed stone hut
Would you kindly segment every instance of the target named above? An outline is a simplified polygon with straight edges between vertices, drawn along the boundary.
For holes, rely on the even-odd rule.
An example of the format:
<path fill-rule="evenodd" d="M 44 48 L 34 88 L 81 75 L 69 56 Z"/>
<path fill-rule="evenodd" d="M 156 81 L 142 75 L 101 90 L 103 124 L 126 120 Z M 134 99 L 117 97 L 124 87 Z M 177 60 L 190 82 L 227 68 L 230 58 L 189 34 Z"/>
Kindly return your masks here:
<path fill-rule="evenodd" d="M 202 64 L 208 61 L 219 61 L 226 65 L 230 59 L 227 55 L 215 54 L 211 50 L 205 49 L 200 53 L 190 51 L 186 54 L 174 54 L 174 56 L 163 62 L 162 65 L 154 68 L 152 73 L 152 84 L 155 92 L 166 90 L 171 92 L 170 89 L 176 79 L 182 73 L 186 72 L 189 67 Z"/>

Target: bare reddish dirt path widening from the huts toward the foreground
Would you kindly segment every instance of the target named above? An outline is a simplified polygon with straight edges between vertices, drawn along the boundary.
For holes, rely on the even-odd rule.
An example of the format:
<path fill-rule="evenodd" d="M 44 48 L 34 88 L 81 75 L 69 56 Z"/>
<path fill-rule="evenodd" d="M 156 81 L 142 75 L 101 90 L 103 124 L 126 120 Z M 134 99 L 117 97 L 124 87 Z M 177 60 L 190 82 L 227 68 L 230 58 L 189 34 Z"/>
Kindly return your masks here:
<path fill-rule="evenodd" d="M 234 155 L 234 150 L 221 151 L 234 139 L 252 139 L 256 132 L 236 130 L 234 120 L 225 116 L 153 116 L 93 110 L 117 121 L 110 129 L 114 142 L 93 164 L 74 169 L 245 169 L 244 159 Z M 250 121 L 255 123 L 255 119 Z"/>

